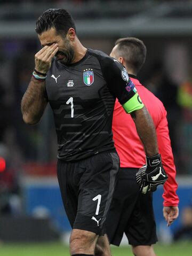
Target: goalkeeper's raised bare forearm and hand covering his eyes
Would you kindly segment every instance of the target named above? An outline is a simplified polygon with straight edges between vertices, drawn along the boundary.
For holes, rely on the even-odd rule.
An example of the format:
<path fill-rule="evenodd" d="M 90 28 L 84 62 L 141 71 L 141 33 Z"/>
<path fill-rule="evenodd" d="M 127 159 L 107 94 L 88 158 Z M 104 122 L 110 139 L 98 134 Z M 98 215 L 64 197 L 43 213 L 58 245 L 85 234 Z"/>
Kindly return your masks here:
<path fill-rule="evenodd" d="M 35 69 L 38 72 L 46 74 L 51 67 L 51 60 L 57 51 L 57 44 L 44 46 L 35 55 Z M 46 105 L 45 81 L 31 77 L 27 91 L 21 101 L 23 120 L 29 125 L 35 125 L 41 119 Z"/>

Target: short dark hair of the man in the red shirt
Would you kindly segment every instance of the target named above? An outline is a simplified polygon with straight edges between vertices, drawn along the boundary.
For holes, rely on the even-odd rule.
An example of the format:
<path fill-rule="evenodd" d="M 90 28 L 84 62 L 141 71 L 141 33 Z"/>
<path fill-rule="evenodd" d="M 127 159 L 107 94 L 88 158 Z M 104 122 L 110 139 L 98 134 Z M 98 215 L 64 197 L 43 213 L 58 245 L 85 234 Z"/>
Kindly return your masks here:
<path fill-rule="evenodd" d="M 125 37 L 119 38 L 115 45 L 117 45 L 118 57 L 122 56 L 127 66 L 138 73 L 146 60 L 147 49 L 145 44 L 138 38 Z"/>

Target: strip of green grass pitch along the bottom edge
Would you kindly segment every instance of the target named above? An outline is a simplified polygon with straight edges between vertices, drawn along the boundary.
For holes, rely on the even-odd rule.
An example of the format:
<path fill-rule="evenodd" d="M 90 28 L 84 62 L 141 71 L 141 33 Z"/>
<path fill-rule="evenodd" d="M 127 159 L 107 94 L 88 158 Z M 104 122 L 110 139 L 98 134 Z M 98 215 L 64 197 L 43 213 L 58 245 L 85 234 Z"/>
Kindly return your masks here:
<path fill-rule="evenodd" d="M 189 256 L 192 252 L 191 242 L 172 245 L 157 244 L 154 246 L 158 256 Z M 130 247 L 111 248 L 113 256 L 133 256 Z M 68 246 L 61 243 L 41 244 L 3 244 L 0 243 L 1 256 L 68 256 Z"/>

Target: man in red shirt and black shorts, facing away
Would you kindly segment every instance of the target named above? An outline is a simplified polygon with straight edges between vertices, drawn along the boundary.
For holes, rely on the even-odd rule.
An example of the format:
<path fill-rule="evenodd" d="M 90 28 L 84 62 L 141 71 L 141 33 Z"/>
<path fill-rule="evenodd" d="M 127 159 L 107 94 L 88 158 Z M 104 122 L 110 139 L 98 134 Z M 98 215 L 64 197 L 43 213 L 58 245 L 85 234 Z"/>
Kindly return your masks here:
<path fill-rule="evenodd" d="M 164 183 L 163 215 L 167 226 L 170 226 L 179 214 L 179 198 L 176 194 L 178 185 L 175 181 L 176 172 L 166 110 L 163 103 L 137 79 L 137 73 L 146 59 L 146 46 L 142 41 L 133 37 L 121 38 L 116 41 L 110 56 L 125 66 L 142 102 L 148 108 L 156 128 L 158 150 L 161 156 L 145 159 L 145 151 L 134 122 L 116 100 L 113 134 L 121 169 L 107 218 L 107 234 L 109 242 L 118 246 L 125 232 L 134 255 L 155 256 L 152 245 L 157 242 L 156 223 L 152 193 L 149 191 L 155 191 L 158 184 L 163 184 L 167 179 L 166 174 L 169 179 Z M 161 157 L 166 174 L 161 164 Z M 145 162 L 147 162 L 147 169 L 144 166 L 138 173 L 138 169 Z M 139 185 L 135 179 L 136 173 L 138 173 Z M 100 246 L 102 247 L 102 244 Z"/>

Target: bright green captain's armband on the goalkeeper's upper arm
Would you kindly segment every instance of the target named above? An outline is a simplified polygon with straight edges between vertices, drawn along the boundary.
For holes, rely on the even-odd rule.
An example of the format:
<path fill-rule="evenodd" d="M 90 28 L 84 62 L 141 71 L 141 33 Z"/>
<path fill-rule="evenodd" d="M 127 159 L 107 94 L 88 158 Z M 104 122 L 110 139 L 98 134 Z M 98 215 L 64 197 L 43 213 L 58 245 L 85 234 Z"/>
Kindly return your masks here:
<path fill-rule="evenodd" d="M 126 111 L 126 113 L 131 113 L 135 110 L 140 110 L 144 105 L 138 93 L 136 92 L 136 94 L 131 99 L 129 99 L 126 103 L 124 103 L 122 106 Z"/>

